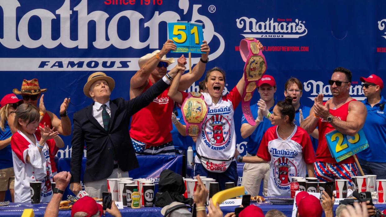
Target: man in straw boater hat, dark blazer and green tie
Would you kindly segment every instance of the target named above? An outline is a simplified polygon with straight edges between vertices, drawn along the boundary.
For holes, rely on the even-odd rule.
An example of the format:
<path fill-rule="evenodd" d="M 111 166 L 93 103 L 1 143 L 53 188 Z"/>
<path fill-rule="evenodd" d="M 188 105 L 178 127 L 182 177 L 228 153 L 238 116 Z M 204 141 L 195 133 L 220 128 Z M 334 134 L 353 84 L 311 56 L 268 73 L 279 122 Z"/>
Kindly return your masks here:
<path fill-rule="evenodd" d="M 71 153 L 70 189 L 75 195 L 80 185 L 83 149 L 86 144 L 87 160 L 83 177 L 85 190 L 91 197 L 102 197 L 107 191 L 107 178 L 128 177 L 129 170 L 138 167 L 135 151 L 127 132 L 130 117 L 146 107 L 169 87 L 179 70 L 176 66 L 143 94 L 130 99 L 110 100 L 115 82 L 103 72 L 91 74 L 83 93 L 94 102 L 74 114 Z"/>

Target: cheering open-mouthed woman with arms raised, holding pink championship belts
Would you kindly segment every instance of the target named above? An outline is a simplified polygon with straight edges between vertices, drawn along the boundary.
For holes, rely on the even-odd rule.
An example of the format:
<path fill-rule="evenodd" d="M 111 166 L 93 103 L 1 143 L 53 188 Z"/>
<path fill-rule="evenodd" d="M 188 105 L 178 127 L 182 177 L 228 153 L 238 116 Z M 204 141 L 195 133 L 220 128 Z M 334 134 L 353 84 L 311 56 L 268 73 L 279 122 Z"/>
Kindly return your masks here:
<path fill-rule="evenodd" d="M 262 48 L 260 42 L 257 47 Z M 180 104 L 188 97 L 188 93 L 178 91 L 182 74 L 183 71 L 180 71 L 174 77 L 168 92 L 168 96 Z M 208 91 L 202 93 L 208 114 L 198 129 L 194 175 L 214 178 L 219 183 L 220 190 L 223 190 L 226 182 L 234 182 L 237 185 L 238 180 L 237 163 L 234 159 L 236 134 L 233 114 L 242 99 L 244 75 L 225 96 L 222 95 L 225 86 L 225 72 L 222 69 L 214 67 L 208 70 L 203 82 Z"/>

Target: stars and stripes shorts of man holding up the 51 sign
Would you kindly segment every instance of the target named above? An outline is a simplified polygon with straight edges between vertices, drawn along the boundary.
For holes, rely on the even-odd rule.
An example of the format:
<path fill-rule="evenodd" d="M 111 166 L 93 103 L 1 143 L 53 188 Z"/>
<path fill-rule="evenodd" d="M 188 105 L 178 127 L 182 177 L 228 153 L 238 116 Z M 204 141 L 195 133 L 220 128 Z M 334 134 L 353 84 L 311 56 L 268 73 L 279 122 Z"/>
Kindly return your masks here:
<path fill-rule="evenodd" d="M 160 146 L 150 146 L 149 148 L 146 148 L 145 143 L 134 140 L 133 138 L 131 138 L 131 142 L 133 143 L 133 147 L 137 155 L 175 155 L 176 154 L 174 150 L 173 141 L 164 143 Z"/>

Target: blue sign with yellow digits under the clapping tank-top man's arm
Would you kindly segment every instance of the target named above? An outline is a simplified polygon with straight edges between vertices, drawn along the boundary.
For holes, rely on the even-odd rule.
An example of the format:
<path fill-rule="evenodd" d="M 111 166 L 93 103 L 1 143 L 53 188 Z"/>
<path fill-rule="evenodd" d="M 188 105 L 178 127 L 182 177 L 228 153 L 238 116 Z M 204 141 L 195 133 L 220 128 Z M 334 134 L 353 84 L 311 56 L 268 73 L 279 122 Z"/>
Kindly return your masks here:
<path fill-rule="evenodd" d="M 360 130 L 355 136 L 347 136 L 334 130 L 327 133 L 325 137 L 331 155 L 337 162 L 369 147 L 363 130 Z"/>

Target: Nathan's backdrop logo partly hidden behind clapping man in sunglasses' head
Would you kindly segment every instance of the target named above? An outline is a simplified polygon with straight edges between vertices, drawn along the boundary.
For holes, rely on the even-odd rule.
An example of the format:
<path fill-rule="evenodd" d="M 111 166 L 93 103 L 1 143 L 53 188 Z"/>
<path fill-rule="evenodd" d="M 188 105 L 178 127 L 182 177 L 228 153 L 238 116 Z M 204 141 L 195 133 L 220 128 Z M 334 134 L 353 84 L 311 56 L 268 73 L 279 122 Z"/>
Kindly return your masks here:
<path fill-rule="evenodd" d="M 323 101 L 327 101 L 328 99 L 332 98 L 332 93 L 329 84 L 324 84 L 322 81 L 309 80 L 307 82 L 304 82 L 303 85 L 304 91 L 310 92 L 311 96 L 308 98 L 312 101 L 315 99 L 315 96 L 318 96 L 318 94 L 324 95 Z M 362 85 L 359 84 L 357 81 L 351 82 L 350 96 L 359 101 L 366 99 L 366 97 L 363 96 Z"/>

